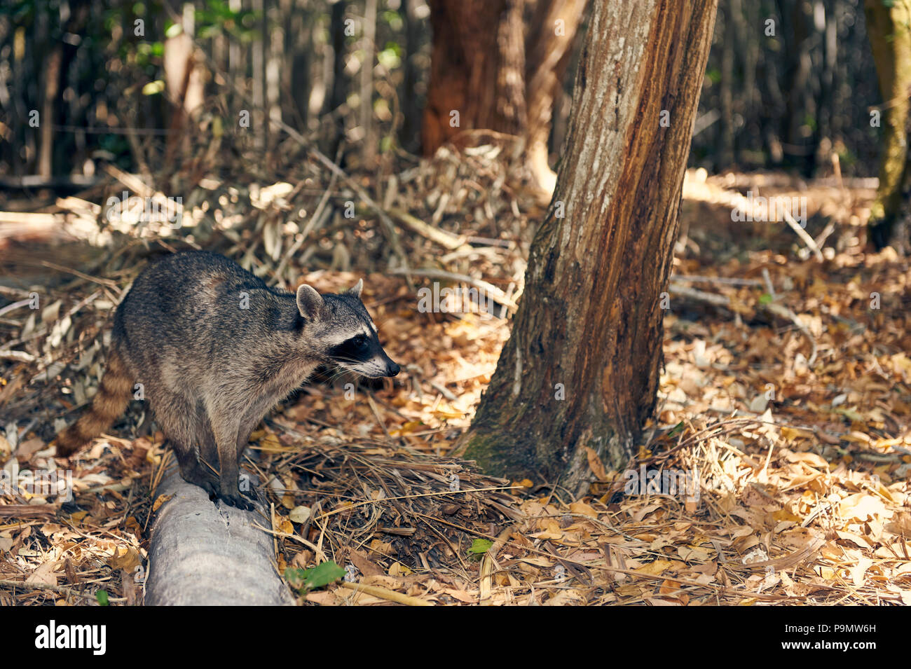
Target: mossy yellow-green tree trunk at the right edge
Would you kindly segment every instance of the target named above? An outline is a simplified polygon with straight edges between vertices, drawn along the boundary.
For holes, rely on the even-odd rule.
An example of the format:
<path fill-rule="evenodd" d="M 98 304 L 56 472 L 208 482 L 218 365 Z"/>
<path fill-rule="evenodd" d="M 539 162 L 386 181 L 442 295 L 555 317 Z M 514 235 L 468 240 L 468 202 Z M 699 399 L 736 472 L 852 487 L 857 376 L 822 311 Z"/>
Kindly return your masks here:
<path fill-rule="evenodd" d="M 879 188 L 870 208 L 870 237 L 876 248 L 893 244 L 906 251 L 911 217 L 911 170 L 907 168 L 908 96 L 911 92 L 911 1 L 866 0 L 866 31 L 883 96 Z"/>

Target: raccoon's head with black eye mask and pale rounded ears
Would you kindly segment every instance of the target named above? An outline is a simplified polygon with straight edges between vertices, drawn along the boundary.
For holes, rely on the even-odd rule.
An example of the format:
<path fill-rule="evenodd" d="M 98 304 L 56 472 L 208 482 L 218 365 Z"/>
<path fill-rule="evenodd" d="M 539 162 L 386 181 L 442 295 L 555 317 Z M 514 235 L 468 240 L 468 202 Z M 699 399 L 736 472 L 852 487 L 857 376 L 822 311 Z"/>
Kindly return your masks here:
<path fill-rule="evenodd" d="M 313 343 L 325 360 L 371 379 L 395 376 L 400 368 L 380 346 L 362 289 L 363 279 L 341 295 L 321 295 L 303 285 L 297 289 L 297 308 L 313 323 Z"/>

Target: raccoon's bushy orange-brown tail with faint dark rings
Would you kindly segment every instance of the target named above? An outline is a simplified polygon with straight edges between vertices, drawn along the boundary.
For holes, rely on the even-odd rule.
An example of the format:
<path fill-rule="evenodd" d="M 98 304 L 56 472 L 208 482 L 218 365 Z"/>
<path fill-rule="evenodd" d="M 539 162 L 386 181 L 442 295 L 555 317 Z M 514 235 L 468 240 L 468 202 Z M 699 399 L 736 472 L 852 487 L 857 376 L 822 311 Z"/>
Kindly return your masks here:
<path fill-rule="evenodd" d="M 127 408 L 129 391 L 132 388 L 133 383 L 130 380 L 129 371 L 117 346 L 110 347 L 107 354 L 107 370 L 101 378 L 101 385 L 98 386 L 98 391 L 92 400 L 92 408 L 57 435 L 57 457 L 69 457 L 95 439 L 102 431 L 107 430 Z"/>

